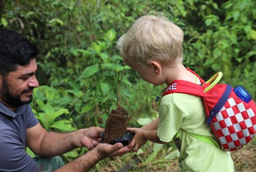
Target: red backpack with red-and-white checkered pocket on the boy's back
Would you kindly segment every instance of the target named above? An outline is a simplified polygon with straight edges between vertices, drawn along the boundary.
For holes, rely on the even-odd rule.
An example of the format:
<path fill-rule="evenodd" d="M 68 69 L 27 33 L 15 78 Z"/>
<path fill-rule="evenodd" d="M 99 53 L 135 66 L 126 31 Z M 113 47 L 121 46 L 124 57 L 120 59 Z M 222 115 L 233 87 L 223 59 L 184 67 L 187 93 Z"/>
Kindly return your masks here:
<path fill-rule="evenodd" d="M 162 96 L 170 93 L 185 93 L 202 97 L 207 116 L 207 125 L 212 128 L 217 143 L 207 136 L 191 134 L 199 140 L 215 144 L 224 151 L 235 151 L 253 140 L 256 130 L 256 105 L 242 86 L 232 87 L 218 83 L 222 72 L 218 72 L 202 85 L 186 80 L 174 80 Z M 213 143 L 212 143 L 213 142 Z"/>

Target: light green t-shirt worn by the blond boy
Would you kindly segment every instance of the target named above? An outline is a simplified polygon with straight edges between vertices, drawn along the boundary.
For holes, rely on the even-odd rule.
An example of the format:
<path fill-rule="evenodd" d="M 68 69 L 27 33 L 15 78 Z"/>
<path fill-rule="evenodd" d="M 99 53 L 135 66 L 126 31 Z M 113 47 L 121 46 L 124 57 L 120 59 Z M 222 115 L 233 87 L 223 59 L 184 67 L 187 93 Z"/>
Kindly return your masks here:
<path fill-rule="evenodd" d="M 211 127 L 205 122 L 204 105 L 200 97 L 182 93 L 162 97 L 157 135 L 161 141 L 169 142 L 176 137 L 179 131 L 180 171 L 233 171 L 233 160 L 229 152 L 222 151 L 187 133 L 214 138 Z"/>

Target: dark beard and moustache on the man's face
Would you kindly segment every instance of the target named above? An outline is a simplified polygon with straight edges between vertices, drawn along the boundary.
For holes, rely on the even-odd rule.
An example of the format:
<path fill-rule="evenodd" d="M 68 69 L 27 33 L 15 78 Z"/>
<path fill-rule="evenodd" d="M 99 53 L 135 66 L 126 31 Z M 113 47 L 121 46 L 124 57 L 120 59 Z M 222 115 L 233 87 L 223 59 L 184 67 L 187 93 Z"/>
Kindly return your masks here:
<path fill-rule="evenodd" d="M 24 104 L 31 103 L 33 99 L 32 95 L 30 96 L 30 99 L 26 101 L 22 101 L 21 96 L 22 96 L 22 93 L 30 92 L 31 90 L 33 90 L 33 87 L 29 87 L 28 89 L 24 90 L 21 94 L 15 94 L 15 93 L 12 93 L 11 90 L 9 89 L 9 85 L 6 79 L 3 79 L 2 81 L 3 82 L 0 90 L 0 95 L 2 97 L 3 103 L 10 105 L 12 107 L 20 107 Z"/>

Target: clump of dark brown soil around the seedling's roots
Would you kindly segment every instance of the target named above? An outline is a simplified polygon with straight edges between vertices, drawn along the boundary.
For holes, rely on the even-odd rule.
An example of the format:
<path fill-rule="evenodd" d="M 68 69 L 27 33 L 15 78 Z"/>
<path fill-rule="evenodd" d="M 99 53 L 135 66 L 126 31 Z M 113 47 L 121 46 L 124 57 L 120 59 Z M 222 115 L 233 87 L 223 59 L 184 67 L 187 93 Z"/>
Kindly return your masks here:
<path fill-rule="evenodd" d="M 117 110 L 112 110 L 106 120 L 105 127 L 105 142 L 109 143 L 112 140 L 120 138 L 127 130 L 128 113 L 125 108 L 119 107 Z"/>

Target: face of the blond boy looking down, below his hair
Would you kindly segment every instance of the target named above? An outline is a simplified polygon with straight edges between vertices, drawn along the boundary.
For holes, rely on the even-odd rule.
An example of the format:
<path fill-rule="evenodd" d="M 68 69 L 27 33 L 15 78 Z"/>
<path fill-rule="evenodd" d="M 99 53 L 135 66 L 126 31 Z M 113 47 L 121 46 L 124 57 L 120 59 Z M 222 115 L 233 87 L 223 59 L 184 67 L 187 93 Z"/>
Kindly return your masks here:
<path fill-rule="evenodd" d="M 148 83 L 152 83 L 152 85 L 154 86 L 163 85 L 163 83 L 165 83 L 165 78 L 163 78 L 161 74 L 158 74 L 156 72 L 154 66 L 133 65 L 127 62 L 126 64 L 129 65 L 131 69 L 138 72 L 143 80 Z"/>

